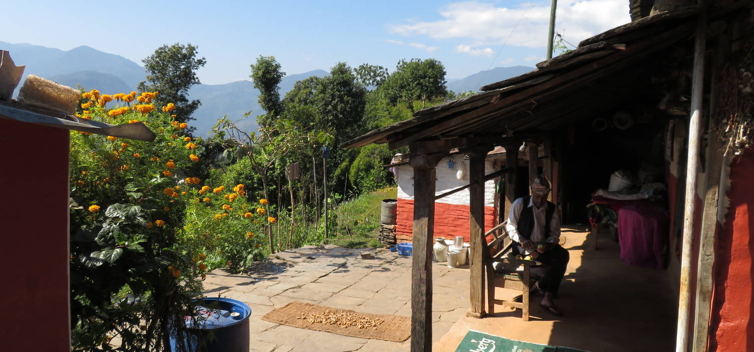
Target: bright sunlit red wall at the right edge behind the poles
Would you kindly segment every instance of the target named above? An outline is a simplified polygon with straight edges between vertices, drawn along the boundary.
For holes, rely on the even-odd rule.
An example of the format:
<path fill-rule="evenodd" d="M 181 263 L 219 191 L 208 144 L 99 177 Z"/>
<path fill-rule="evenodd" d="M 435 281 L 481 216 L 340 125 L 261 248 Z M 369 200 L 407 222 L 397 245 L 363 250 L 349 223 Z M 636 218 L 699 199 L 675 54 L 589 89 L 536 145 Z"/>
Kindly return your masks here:
<path fill-rule="evenodd" d="M 754 350 L 754 150 L 731 163 L 730 207 L 715 243 L 710 351 Z"/>

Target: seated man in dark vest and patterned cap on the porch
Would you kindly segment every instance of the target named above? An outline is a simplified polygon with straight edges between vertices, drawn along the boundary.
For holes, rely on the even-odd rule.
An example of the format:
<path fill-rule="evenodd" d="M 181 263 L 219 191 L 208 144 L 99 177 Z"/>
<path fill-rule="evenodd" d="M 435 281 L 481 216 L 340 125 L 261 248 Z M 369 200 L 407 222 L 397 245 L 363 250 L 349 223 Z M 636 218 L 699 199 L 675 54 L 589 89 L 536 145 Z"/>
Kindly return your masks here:
<path fill-rule="evenodd" d="M 535 283 L 532 292 L 544 295 L 540 306 L 547 313 L 559 316 L 562 313 L 555 306 L 554 298 L 566 274 L 569 253 L 558 244 L 560 217 L 555 204 L 547 201 L 550 181 L 544 175 L 538 175 L 531 187 L 532 195 L 516 199 L 510 205 L 506 229 L 510 239 L 516 242 L 513 245 L 514 253 L 532 256 L 532 259 L 550 268 Z"/>

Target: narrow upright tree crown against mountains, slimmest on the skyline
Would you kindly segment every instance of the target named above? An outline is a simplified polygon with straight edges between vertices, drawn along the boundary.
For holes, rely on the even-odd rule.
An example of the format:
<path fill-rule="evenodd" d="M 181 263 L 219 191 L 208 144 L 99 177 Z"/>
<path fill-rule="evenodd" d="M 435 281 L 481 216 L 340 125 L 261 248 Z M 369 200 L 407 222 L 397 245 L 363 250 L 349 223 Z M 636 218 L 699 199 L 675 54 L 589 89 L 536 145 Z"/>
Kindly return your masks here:
<path fill-rule="evenodd" d="M 249 77 L 254 81 L 254 87 L 259 90 L 259 106 L 267 112 L 268 118 L 283 112 L 283 105 L 280 103 L 280 80 L 285 77 L 285 72 L 281 71 L 280 67 L 275 57 L 262 55 L 256 58 L 256 63 L 251 64 Z"/>

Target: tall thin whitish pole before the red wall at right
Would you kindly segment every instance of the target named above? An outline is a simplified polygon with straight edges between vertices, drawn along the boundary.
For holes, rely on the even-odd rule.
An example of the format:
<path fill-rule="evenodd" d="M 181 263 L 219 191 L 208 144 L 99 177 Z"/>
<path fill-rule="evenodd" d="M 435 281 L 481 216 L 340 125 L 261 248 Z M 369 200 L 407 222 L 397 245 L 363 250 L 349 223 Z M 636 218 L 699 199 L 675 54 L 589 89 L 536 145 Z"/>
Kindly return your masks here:
<path fill-rule="evenodd" d="M 691 246 L 694 241 L 694 218 L 697 208 L 697 179 L 699 170 L 699 133 L 704 90 L 704 56 L 706 51 L 706 12 L 697 20 L 694 43 L 694 72 L 691 78 L 691 121 L 688 126 L 688 155 L 686 161 L 686 191 L 683 212 L 683 237 L 681 248 L 681 286 L 678 302 L 676 352 L 688 350 L 688 323 L 691 312 Z"/>

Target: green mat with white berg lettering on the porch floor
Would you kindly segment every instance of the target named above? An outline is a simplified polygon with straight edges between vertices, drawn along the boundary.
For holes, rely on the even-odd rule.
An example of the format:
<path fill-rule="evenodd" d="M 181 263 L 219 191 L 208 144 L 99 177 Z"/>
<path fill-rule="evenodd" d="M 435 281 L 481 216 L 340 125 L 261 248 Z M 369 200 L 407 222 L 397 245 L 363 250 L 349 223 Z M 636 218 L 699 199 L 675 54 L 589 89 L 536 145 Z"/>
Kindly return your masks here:
<path fill-rule="evenodd" d="M 470 330 L 455 352 L 586 352 L 569 347 L 547 346 L 510 340 L 484 332 Z"/>

